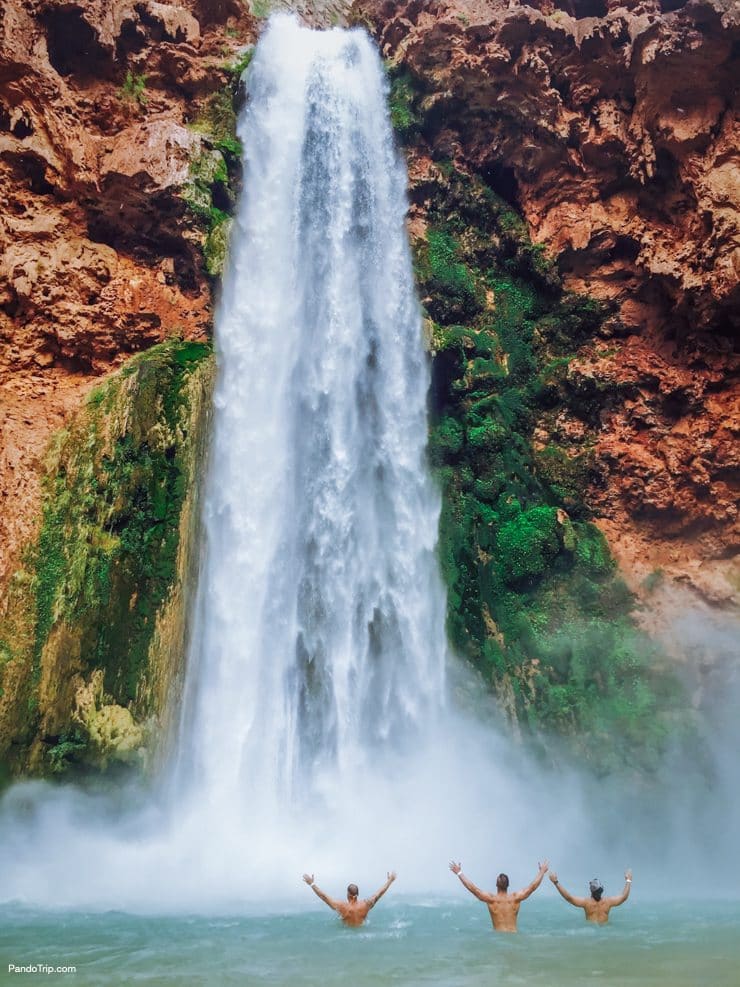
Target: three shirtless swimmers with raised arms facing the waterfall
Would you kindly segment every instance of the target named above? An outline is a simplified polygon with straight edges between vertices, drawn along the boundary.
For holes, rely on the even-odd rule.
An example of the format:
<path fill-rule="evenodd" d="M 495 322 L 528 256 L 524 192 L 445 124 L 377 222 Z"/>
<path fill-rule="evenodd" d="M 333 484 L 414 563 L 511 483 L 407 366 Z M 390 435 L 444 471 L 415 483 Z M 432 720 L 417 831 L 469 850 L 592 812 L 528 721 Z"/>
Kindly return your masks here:
<path fill-rule="evenodd" d="M 454 860 L 450 864 L 450 870 L 453 874 L 456 874 L 460 878 L 463 886 L 466 887 L 468 891 L 478 899 L 478 901 L 482 901 L 488 906 L 493 927 L 497 932 L 516 932 L 516 919 L 519 914 L 519 906 L 540 886 L 542 883 L 542 878 L 549 870 L 549 864 L 546 860 L 539 864 L 537 876 L 531 884 L 528 884 L 527 887 L 523 888 L 521 891 L 509 891 L 509 878 L 506 874 L 499 874 L 496 878 L 495 893 L 492 891 L 481 891 L 479 887 L 476 887 L 476 885 L 463 874 L 462 866 L 459 863 L 455 863 Z M 383 887 L 379 888 L 371 898 L 363 899 L 360 899 L 360 892 L 357 885 L 350 884 L 347 888 L 347 900 L 339 901 L 336 898 L 330 898 L 328 894 L 325 894 L 321 888 L 314 884 L 313 874 L 303 875 L 303 880 L 306 884 L 308 884 L 311 890 L 317 894 L 319 898 L 321 898 L 321 900 L 329 906 L 329 908 L 333 908 L 334 911 L 337 912 L 345 925 L 351 926 L 362 925 L 367 918 L 370 909 L 377 905 L 395 879 L 395 873 L 390 871 L 388 874 L 388 880 L 385 882 Z M 570 892 L 566 891 L 561 885 L 558 880 L 558 875 L 552 871 L 550 871 L 550 880 L 569 904 L 575 905 L 576 908 L 583 909 L 588 922 L 595 922 L 597 925 L 604 925 L 609 921 L 609 912 L 611 909 L 615 908 L 617 905 L 621 905 L 629 898 L 630 888 L 632 887 L 632 871 L 628 870 L 624 875 L 624 891 L 622 891 L 621 894 L 613 895 L 607 898 L 604 897 L 604 888 L 602 887 L 601 882 L 596 878 L 594 878 L 594 880 L 589 884 L 589 891 L 591 894 L 588 898 L 579 898 L 576 895 L 570 894 Z"/>

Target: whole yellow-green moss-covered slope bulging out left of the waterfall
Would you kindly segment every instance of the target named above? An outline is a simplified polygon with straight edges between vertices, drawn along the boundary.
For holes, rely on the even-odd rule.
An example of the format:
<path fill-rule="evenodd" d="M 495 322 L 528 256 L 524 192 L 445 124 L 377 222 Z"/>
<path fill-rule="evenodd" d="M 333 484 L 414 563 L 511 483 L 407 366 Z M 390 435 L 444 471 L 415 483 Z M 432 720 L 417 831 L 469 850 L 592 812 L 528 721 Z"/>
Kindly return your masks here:
<path fill-rule="evenodd" d="M 0 615 L 0 757 L 49 773 L 146 758 L 185 645 L 213 360 L 171 340 L 49 451 L 41 531 Z"/>

